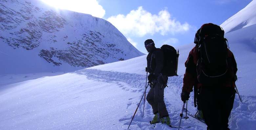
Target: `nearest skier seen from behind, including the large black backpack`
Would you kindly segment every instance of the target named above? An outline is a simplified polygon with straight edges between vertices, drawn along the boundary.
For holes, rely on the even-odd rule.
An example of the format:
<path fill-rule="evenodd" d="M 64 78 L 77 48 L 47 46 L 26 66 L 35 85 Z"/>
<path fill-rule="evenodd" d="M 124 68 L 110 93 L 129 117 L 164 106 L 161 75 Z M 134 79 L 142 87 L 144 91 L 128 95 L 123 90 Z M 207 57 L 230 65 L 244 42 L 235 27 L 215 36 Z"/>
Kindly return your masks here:
<path fill-rule="evenodd" d="M 207 129 L 229 130 L 237 65 L 233 53 L 227 49 L 224 30 L 212 23 L 203 24 L 194 43 L 196 46 L 185 62 L 181 100 L 186 102 L 193 86 L 197 86 Z"/>

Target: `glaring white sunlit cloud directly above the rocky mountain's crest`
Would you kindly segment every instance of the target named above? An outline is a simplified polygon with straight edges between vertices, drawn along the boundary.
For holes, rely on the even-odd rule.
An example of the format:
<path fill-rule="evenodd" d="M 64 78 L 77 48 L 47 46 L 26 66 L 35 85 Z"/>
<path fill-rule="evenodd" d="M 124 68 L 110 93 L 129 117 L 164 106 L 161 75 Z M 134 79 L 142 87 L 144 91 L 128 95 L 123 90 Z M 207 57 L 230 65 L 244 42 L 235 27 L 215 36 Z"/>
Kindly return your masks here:
<path fill-rule="evenodd" d="M 91 14 L 102 18 L 105 10 L 97 0 L 42 0 L 43 2 L 60 9 L 72 10 L 75 12 Z"/>

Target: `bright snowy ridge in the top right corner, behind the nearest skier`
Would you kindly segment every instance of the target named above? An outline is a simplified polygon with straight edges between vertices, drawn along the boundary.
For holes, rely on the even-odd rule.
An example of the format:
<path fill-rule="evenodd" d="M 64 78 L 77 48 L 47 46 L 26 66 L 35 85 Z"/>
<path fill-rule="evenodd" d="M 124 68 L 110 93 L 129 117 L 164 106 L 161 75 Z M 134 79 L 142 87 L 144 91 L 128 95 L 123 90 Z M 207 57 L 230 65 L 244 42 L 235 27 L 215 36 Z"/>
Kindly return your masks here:
<path fill-rule="evenodd" d="M 223 27 L 225 33 L 228 33 L 256 24 L 255 7 L 256 0 L 253 0 L 245 8 L 223 22 L 220 26 Z"/>

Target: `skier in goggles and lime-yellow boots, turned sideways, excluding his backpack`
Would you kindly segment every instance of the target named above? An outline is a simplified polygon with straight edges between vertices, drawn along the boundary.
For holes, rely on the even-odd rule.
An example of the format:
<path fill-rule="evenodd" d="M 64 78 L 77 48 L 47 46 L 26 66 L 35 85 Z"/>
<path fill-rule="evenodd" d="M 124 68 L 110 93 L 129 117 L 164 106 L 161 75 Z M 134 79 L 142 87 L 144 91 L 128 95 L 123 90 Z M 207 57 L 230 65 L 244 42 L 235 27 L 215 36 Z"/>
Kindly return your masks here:
<path fill-rule="evenodd" d="M 155 47 L 152 39 L 147 39 L 145 48 L 149 52 L 147 55 L 146 71 L 149 72 L 148 81 L 151 84 L 147 94 L 147 101 L 152 106 L 155 114 L 151 123 L 165 123 L 170 125 L 170 118 L 164 103 L 164 88 L 168 77 L 161 73 L 163 69 L 164 54 L 160 48 Z"/>

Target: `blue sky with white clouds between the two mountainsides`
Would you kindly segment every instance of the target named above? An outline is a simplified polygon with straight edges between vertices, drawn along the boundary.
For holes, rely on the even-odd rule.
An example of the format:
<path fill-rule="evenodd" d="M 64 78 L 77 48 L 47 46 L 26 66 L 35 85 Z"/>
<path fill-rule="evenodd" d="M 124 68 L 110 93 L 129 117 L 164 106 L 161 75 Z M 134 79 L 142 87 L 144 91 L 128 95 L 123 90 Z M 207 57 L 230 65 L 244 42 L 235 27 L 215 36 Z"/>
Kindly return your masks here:
<path fill-rule="evenodd" d="M 43 0 L 53 1 L 53 0 Z M 58 0 L 55 0 L 58 1 Z M 174 47 L 193 42 L 203 23 L 220 25 L 251 0 L 62 0 L 67 7 L 111 22 L 141 52 L 146 39 L 156 47 Z M 72 3 L 70 3 L 72 2 Z M 76 5 L 74 5 L 76 4 Z M 59 5 L 59 4 L 56 4 Z M 84 5 L 84 6 L 81 6 Z M 65 8 L 65 7 L 63 7 Z M 87 9 L 87 12 L 85 11 Z"/>

